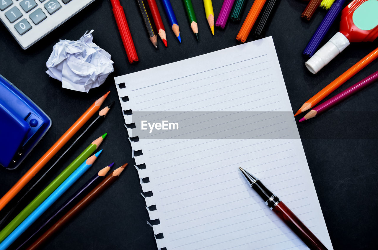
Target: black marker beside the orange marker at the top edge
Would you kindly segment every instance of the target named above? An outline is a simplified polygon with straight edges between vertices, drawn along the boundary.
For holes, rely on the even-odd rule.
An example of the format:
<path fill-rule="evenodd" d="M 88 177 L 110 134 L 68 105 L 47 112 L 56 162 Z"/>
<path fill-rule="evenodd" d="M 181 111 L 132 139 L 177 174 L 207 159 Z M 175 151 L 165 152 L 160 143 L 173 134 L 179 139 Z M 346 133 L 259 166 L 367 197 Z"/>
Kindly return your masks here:
<path fill-rule="evenodd" d="M 253 37 L 255 39 L 260 39 L 265 35 L 266 29 L 268 28 L 268 23 L 270 23 L 274 12 L 276 12 L 277 6 L 280 0 L 267 0 L 257 21 L 255 23 L 255 27 L 253 30 Z"/>

